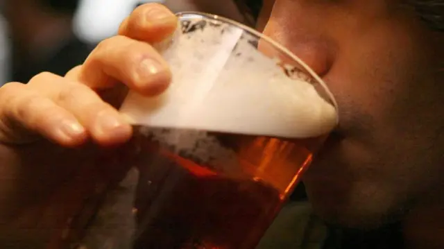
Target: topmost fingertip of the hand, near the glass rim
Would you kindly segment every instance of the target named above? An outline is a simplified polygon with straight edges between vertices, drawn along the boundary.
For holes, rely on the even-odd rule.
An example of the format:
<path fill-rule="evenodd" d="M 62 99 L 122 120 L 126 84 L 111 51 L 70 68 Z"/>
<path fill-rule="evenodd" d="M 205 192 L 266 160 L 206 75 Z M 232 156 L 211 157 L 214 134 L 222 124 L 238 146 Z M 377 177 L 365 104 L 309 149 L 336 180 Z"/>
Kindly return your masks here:
<path fill-rule="evenodd" d="M 178 18 L 160 3 L 146 3 L 135 8 L 120 28 L 119 35 L 149 43 L 162 42 L 178 26 Z"/>

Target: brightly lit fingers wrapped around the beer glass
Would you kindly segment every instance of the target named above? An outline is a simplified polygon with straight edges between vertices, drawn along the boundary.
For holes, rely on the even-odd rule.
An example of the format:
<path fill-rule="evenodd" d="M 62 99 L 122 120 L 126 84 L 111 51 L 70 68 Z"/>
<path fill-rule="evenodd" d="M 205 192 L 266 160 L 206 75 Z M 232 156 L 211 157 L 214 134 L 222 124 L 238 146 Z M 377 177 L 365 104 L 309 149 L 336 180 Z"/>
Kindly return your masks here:
<path fill-rule="evenodd" d="M 176 16 L 164 6 L 139 6 L 119 35 L 101 42 L 65 77 L 42 73 L 26 85 L 4 85 L 0 142 L 25 144 L 36 136 L 62 146 L 78 146 L 88 138 L 102 145 L 128 140 L 131 127 L 112 105 L 119 105 L 126 87 L 147 96 L 168 87 L 169 67 L 150 44 L 169 37 L 176 25 Z"/>

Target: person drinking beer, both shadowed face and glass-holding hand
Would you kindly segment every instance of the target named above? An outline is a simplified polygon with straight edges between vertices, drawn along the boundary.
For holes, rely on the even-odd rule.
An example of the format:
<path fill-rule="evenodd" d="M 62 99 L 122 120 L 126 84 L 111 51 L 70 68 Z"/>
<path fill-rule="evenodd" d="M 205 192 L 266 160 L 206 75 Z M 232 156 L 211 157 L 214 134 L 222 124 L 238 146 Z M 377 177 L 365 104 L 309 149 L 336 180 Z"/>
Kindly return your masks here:
<path fill-rule="evenodd" d="M 382 242 L 373 248 L 444 247 L 443 12 L 442 1 L 264 2 L 258 28 L 322 76 L 340 106 L 340 125 L 304 178 L 314 212 L 332 232 L 324 245 L 298 246 L 365 248 L 370 234 Z M 40 234 L 26 238 L 44 237 L 44 225 L 78 209 L 55 212 L 63 201 L 81 203 L 106 182 L 85 174 L 92 150 L 53 148 L 35 135 L 62 146 L 126 141 L 130 126 L 92 89 L 103 94 L 123 82 L 148 96 L 164 91 L 171 75 L 146 42 L 168 37 L 175 25 L 161 6 L 141 6 L 123 22 L 123 36 L 103 42 L 67 76 L 40 74 L 26 86 L 0 88 L 1 175 L 8 179 L 0 189 L 0 220 L 9 230 L 31 225 Z M 32 166 L 35 158 L 46 164 Z M 75 189 L 78 171 L 87 177 Z M 33 188 L 38 195 L 29 198 Z M 30 205 L 46 209 L 26 209 Z M 400 227 L 392 241 L 374 232 L 392 224 Z"/>

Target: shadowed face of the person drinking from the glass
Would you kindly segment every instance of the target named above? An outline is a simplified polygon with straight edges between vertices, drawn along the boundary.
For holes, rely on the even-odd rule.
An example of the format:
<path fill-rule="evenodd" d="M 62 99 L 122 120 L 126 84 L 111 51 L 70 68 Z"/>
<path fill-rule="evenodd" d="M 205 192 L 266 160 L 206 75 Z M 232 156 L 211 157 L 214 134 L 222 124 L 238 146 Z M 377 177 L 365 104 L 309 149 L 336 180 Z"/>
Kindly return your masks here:
<path fill-rule="evenodd" d="M 441 201 L 443 33 L 395 0 L 264 6 L 259 28 L 320 74 L 339 103 L 340 126 L 304 179 L 317 214 L 374 227 Z"/>

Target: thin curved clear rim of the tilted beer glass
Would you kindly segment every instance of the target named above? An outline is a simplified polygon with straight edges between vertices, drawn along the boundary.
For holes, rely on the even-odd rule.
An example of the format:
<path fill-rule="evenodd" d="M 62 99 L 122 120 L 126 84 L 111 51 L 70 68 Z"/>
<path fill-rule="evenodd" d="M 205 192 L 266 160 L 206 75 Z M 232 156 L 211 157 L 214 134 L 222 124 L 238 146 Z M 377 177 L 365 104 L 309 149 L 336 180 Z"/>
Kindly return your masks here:
<path fill-rule="evenodd" d="M 330 98 L 330 101 L 332 101 L 332 105 L 333 105 L 334 109 L 336 110 L 336 123 L 339 123 L 338 103 L 336 102 L 336 98 L 334 98 L 334 95 L 330 91 L 330 88 L 327 86 L 327 84 L 324 82 L 324 80 L 322 80 L 321 76 L 318 76 L 318 74 L 316 74 L 316 72 L 313 69 L 311 69 L 311 67 L 309 67 L 303 60 L 301 60 L 296 54 L 291 52 L 285 46 L 282 46 L 279 42 L 276 42 L 271 37 L 264 35 L 263 33 L 255 30 L 254 28 L 251 28 L 245 24 L 241 24 L 240 22 L 234 21 L 232 19 L 222 17 L 220 15 L 214 15 L 214 14 L 210 14 L 207 12 L 200 12 L 200 11 L 181 11 L 181 12 L 176 13 L 177 17 L 185 17 L 186 15 L 197 15 L 202 18 L 214 19 L 217 21 L 225 22 L 226 24 L 230 24 L 232 26 L 237 26 L 238 28 L 241 28 L 244 31 L 247 31 L 250 34 L 255 35 L 260 40 L 265 40 L 266 42 L 268 42 L 272 46 L 275 46 L 275 48 L 278 49 L 280 52 L 285 53 L 287 56 L 289 56 L 289 58 L 298 62 L 310 74 L 310 76 L 313 77 L 318 82 L 318 84 L 321 85 L 321 87 L 323 87 L 323 90 L 327 94 L 328 98 Z"/>

